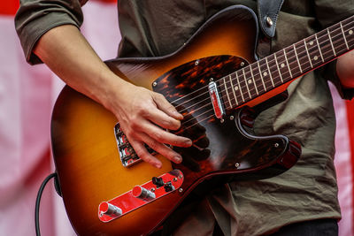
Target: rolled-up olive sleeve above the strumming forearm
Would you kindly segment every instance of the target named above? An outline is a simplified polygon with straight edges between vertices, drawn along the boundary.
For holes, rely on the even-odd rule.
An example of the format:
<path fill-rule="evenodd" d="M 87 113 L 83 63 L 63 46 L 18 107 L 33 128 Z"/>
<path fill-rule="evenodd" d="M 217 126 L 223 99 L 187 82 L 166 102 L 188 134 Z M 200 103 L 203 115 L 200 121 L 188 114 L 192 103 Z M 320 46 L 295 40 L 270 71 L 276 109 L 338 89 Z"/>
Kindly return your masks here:
<path fill-rule="evenodd" d="M 19 11 L 15 16 L 15 27 L 29 64 L 42 63 L 32 51 L 35 43 L 51 28 L 61 25 L 81 27 L 83 21 L 81 5 L 86 1 L 20 0 Z"/>

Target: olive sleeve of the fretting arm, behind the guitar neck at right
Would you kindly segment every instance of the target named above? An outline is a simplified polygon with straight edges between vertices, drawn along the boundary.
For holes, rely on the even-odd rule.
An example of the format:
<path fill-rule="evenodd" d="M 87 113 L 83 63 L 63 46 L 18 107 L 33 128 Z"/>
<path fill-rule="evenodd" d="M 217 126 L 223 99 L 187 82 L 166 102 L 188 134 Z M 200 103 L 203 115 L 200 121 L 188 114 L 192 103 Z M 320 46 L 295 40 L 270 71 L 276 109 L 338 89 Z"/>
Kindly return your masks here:
<path fill-rule="evenodd" d="M 354 14 L 353 0 L 315 0 L 316 17 L 321 28 L 330 27 L 336 22 L 347 19 Z M 354 97 L 354 88 L 343 88 L 336 73 L 336 60 L 319 69 L 320 76 L 330 80 L 344 99 Z"/>

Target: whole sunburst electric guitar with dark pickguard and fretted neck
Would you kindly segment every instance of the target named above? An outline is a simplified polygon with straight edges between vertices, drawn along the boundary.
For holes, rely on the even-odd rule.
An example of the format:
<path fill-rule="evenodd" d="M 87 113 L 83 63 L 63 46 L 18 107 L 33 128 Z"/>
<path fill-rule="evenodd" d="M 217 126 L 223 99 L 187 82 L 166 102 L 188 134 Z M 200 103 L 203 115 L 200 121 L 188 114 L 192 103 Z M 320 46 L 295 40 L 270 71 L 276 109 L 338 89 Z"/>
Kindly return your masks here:
<path fill-rule="evenodd" d="M 257 18 L 233 6 L 207 20 L 171 55 L 107 61 L 119 77 L 165 95 L 184 115 L 175 133 L 191 137 L 194 145 L 176 148 L 182 164 L 155 154 L 161 169 L 140 161 L 112 113 L 66 86 L 53 110 L 51 140 L 75 232 L 149 234 L 204 183 L 288 170 L 300 146 L 283 135 L 256 136 L 253 120 L 291 81 L 353 49 L 353 30 L 351 16 L 256 60 Z"/>

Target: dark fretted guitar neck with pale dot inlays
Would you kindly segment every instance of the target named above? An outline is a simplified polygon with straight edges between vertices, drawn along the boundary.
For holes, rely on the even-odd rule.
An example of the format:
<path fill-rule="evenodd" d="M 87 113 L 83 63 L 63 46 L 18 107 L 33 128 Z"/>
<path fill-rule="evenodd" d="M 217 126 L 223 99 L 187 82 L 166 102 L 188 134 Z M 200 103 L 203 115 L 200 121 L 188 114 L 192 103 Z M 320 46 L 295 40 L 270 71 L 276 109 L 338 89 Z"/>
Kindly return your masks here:
<path fill-rule="evenodd" d="M 354 16 L 219 80 L 226 110 L 277 88 L 354 49 Z"/>

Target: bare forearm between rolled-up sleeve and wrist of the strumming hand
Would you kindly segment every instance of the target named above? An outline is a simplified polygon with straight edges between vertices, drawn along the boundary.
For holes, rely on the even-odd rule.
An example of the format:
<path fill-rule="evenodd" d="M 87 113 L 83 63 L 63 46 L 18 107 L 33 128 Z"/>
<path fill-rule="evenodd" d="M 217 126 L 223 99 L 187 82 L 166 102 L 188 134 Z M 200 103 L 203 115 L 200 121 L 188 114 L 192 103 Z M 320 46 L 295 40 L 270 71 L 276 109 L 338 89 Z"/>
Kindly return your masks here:
<path fill-rule="evenodd" d="M 42 35 L 34 52 L 66 84 L 106 108 L 111 108 L 107 95 L 112 89 L 128 86 L 96 55 L 77 27 L 51 29 Z"/>

